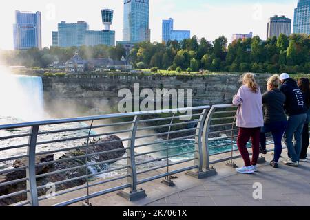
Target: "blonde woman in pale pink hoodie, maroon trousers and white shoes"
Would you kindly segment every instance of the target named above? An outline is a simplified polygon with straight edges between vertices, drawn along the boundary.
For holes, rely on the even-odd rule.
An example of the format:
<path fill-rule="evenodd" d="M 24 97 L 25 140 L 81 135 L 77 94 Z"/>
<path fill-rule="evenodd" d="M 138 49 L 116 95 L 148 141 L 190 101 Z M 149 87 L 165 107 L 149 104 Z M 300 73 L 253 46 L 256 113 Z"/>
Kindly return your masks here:
<path fill-rule="evenodd" d="M 242 87 L 234 96 L 233 104 L 238 106 L 236 115 L 236 126 L 239 127 L 237 145 L 245 166 L 236 170 L 238 173 L 254 173 L 258 171 L 256 164 L 259 157 L 260 129 L 264 126 L 262 94 L 254 74 L 244 74 L 241 81 Z M 247 142 L 250 138 L 253 152 L 251 160 L 249 151 L 247 151 Z"/>

